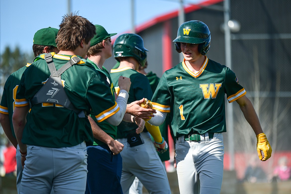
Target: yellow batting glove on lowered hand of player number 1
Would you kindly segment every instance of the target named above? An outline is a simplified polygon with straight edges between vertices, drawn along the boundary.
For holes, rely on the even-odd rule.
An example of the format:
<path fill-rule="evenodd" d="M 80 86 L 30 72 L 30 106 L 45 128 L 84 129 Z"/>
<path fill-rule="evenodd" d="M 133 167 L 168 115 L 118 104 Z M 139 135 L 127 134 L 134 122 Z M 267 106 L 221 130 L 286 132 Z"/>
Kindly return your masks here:
<path fill-rule="evenodd" d="M 260 133 L 256 137 L 257 137 L 258 156 L 259 156 L 260 160 L 266 161 L 272 155 L 272 148 L 269 144 L 269 141 L 268 141 L 265 133 Z M 262 156 L 262 151 L 264 153 L 264 158 Z"/>

